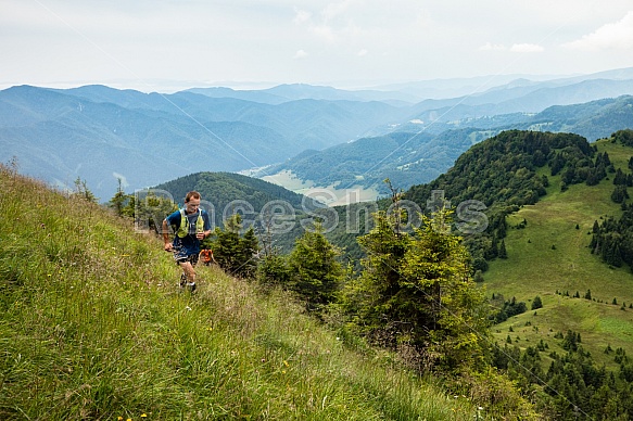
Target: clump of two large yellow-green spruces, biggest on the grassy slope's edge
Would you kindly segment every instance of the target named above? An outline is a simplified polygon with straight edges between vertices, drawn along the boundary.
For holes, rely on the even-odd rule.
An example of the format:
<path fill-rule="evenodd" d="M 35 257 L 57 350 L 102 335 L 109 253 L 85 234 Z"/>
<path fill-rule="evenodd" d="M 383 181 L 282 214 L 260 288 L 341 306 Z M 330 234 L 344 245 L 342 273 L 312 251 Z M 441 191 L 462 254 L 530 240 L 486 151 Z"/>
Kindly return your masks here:
<path fill-rule="evenodd" d="M 485 298 L 470 279 L 468 252 L 450 231 L 450 212 L 421 218 L 408 235 L 394 229 L 392 216 L 375 214 L 375 228 L 358 240 L 367 258 L 345 289 L 346 308 L 375 342 L 406 342 L 446 368 L 472 363 L 485 335 Z"/>

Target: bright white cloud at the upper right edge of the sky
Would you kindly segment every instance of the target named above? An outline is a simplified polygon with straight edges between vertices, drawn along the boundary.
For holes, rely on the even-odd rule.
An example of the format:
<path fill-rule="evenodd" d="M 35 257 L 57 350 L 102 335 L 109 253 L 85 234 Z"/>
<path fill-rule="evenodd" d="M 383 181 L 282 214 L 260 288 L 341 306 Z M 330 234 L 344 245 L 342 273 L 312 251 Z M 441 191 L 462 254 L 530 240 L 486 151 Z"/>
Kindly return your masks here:
<path fill-rule="evenodd" d="M 581 39 L 564 43 L 562 47 L 590 51 L 633 48 L 633 11 L 626 13 L 622 20 L 604 25 Z"/>

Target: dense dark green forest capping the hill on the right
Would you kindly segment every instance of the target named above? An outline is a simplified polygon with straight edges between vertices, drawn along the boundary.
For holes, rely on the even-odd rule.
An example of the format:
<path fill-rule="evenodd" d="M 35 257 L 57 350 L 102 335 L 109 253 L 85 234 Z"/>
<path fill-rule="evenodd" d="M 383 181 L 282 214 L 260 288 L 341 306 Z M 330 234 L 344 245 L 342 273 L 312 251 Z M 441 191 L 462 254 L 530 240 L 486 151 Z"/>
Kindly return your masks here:
<path fill-rule="evenodd" d="M 533 205 L 546 194 L 548 177 L 561 175 L 561 189 L 607 176 L 604 156 L 585 138 L 572 133 L 509 130 L 465 152 L 445 174 L 428 184 L 412 187 L 405 197 L 426 207 L 434 190 L 442 190 L 453 206 L 474 200 L 485 205 L 488 228 L 466 240 L 474 267 L 485 271 L 486 260 L 505 258 L 506 216 Z"/>

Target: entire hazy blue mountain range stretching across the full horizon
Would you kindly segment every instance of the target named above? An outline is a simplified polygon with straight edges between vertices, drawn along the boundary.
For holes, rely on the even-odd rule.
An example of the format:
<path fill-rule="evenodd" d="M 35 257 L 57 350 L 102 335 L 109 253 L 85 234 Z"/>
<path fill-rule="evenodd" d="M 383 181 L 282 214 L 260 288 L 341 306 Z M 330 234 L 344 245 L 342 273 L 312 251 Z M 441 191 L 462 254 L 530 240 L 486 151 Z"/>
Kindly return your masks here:
<path fill-rule="evenodd" d="M 290 171 L 322 187 L 376 187 L 389 177 L 407 188 L 504 129 L 566 130 L 591 141 L 633 127 L 628 94 L 633 68 L 353 91 L 16 86 L 0 91 L 0 158 L 62 189 L 84 180 L 101 201 L 119 180 L 129 191 L 199 171 Z"/>

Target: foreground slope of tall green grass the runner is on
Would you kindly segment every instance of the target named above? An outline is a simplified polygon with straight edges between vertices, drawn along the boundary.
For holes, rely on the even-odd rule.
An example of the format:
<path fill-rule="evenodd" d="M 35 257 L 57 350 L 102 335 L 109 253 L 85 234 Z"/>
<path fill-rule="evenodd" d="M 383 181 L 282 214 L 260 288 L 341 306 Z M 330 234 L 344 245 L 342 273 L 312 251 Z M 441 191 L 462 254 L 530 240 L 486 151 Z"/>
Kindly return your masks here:
<path fill-rule="evenodd" d="M 0 192 L 0 419 L 473 419 L 280 292 L 200 268 L 180 294 L 155 239 L 5 167 Z"/>

